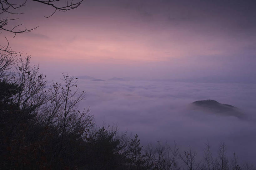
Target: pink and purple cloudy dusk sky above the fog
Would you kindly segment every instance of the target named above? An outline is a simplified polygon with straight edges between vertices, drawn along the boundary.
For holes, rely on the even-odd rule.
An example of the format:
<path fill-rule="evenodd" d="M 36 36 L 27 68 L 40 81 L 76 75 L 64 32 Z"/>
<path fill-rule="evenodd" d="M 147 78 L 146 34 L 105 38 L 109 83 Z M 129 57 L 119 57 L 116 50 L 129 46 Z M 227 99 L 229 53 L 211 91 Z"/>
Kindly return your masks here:
<path fill-rule="evenodd" d="M 1 43 L 31 55 L 50 78 L 256 82 L 254 1 L 85 0 L 67 12 L 30 2 Z M 11 23 L 11 22 L 10 22 Z"/>

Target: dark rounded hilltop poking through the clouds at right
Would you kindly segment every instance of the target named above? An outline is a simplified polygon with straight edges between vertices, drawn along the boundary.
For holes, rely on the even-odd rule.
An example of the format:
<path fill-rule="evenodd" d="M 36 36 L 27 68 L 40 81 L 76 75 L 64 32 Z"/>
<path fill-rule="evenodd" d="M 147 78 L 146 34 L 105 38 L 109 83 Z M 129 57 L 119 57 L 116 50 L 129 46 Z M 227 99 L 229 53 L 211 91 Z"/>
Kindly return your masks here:
<path fill-rule="evenodd" d="M 198 100 L 191 103 L 196 109 L 200 109 L 213 114 L 220 114 L 224 116 L 235 116 L 239 119 L 244 119 L 243 114 L 238 108 L 230 104 L 221 104 L 216 100 Z"/>

